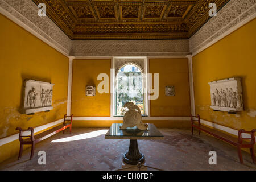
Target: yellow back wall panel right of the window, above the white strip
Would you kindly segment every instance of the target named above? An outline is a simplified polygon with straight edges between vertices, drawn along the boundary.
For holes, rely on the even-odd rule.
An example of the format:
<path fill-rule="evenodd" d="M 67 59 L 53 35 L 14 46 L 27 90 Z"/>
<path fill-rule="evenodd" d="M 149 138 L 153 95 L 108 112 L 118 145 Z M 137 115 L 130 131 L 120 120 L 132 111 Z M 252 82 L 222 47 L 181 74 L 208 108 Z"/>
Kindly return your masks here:
<path fill-rule="evenodd" d="M 150 100 L 151 116 L 189 116 L 188 59 L 150 59 L 150 73 L 159 73 L 159 97 Z M 175 86 L 175 96 L 165 95 L 166 86 Z"/>

